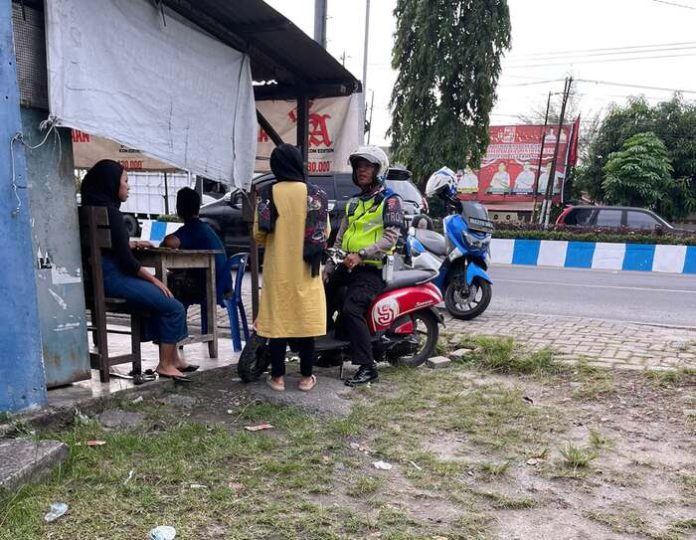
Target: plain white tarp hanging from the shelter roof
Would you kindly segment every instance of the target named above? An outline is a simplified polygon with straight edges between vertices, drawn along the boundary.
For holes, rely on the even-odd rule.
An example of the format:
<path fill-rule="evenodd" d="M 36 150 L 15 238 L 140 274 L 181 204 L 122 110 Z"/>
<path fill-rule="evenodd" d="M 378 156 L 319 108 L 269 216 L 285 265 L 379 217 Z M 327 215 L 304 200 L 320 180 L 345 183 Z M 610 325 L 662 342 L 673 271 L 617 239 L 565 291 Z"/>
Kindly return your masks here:
<path fill-rule="evenodd" d="M 51 115 L 246 188 L 257 137 L 249 57 L 165 14 L 148 0 L 47 0 Z"/>

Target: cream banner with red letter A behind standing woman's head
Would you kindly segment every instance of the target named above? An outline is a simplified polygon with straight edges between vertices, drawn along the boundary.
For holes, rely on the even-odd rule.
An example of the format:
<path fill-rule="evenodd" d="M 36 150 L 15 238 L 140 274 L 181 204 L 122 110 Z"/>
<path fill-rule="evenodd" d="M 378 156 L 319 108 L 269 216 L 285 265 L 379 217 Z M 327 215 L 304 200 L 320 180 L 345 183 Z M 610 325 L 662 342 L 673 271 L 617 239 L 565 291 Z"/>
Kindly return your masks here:
<path fill-rule="evenodd" d="M 259 101 L 256 107 L 284 142 L 296 144 L 296 101 Z M 360 107 L 360 94 L 310 101 L 307 165 L 310 174 L 350 171 L 348 156 L 362 144 Z M 261 128 L 257 142 L 255 170 L 269 171 L 269 160 L 275 144 Z"/>

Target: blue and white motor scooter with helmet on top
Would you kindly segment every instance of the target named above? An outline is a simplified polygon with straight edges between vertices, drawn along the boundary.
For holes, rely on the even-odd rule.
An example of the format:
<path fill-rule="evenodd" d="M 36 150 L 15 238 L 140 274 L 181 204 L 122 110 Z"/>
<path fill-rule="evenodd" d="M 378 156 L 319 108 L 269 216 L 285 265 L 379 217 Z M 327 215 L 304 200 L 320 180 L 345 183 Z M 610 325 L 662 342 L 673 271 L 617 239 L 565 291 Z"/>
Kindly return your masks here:
<path fill-rule="evenodd" d="M 428 196 L 439 195 L 456 212 L 443 220 L 445 236 L 419 228 L 422 221 L 416 217 L 409 228 L 406 254 L 413 268 L 439 272 L 433 283 L 442 291 L 447 310 L 466 320 L 483 313 L 492 298 L 493 281 L 486 270 L 493 223 L 483 205 L 457 198 L 452 180 L 454 173 L 450 179 L 441 170 L 426 187 Z"/>

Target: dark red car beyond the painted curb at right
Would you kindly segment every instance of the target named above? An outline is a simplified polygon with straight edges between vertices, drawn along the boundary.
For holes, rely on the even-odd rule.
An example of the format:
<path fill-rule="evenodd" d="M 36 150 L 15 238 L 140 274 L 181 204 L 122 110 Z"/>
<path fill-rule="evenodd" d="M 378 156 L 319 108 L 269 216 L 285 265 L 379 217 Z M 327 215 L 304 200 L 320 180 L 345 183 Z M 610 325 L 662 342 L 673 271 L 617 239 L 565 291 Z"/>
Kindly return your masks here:
<path fill-rule="evenodd" d="M 558 216 L 556 225 L 674 230 L 672 225 L 655 212 L 632 206 L 569 206 Z"/>

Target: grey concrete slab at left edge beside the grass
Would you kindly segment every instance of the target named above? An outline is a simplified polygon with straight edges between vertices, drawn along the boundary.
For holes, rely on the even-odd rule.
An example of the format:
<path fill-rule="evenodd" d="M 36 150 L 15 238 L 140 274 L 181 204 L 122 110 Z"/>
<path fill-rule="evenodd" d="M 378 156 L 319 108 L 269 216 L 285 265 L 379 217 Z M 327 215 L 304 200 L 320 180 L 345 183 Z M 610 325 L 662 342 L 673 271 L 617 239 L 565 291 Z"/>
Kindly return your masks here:
<path fill-rule="evenodd" d="M 0 441 L 0 488 L 15 489 L 48 474 L 68 457 L 59 441 Z"/>

